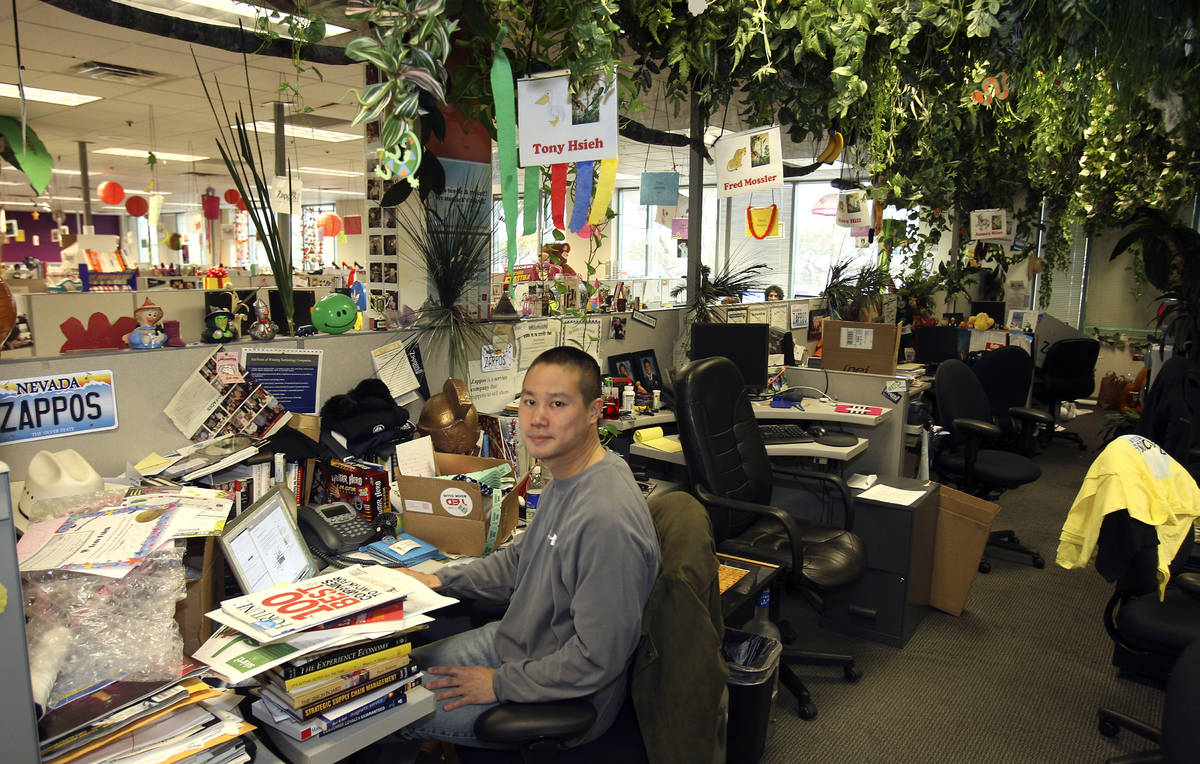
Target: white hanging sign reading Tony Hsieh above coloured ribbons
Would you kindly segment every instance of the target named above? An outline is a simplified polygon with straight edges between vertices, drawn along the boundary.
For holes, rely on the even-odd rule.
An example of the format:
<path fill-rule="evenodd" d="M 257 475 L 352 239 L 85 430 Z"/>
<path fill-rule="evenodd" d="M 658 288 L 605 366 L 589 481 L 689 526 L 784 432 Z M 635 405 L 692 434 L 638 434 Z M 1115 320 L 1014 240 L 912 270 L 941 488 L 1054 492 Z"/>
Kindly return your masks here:
<path fill-rule="evenodd" d="M 617 78 L 572 95 L 568 76 L 517 80 L 521 167 L 617 156 Z"/>

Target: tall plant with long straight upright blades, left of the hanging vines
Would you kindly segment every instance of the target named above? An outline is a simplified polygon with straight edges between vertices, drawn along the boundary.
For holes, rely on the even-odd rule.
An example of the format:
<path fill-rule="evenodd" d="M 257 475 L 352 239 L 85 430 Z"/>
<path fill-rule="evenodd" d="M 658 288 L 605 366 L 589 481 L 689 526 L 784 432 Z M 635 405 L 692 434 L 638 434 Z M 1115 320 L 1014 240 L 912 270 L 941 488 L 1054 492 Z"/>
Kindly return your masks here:
<path fill-rule="evenodd" d="M 226 107 L 224 94 L 221 92 L 221 82 L 214 77 L 212 84 L 221 102 L 221 110 L 217 112 L 217 104 L 212 100 L 212 94 L 209 92 L 209 84 L 204 80 L 204 74 L 200 72 L 200 62 L 196 59 L 194 50 L 192 50 L 192 62 L 196 65 L 196 74 L 200 78 L 200 85 L 204 86 L 204 97 L 209 100 L 212 120 L 217 124 L 217 151 L 221 152 L 221 160 L 224 162 L 226 169 L 229 170 L 234 187 L 238 188 L 238 193 L 241 194 L 241 199 L 246 204 L 246 211 L 250 213 L 250 221 L 254 225 L 254 231 L 263 242 L 263 248 L 266 249 L 266 261 L 271 266 L 275 288 L 280 294 L 280 303 L 283 306 L 283 318 L 280 320 L 280 325 L 284 327 L 286 333 L 292 335 L 295 330 L 292 325 L 292 315 L 295 306 L 295 300 L 292 295 L 292 260 L 283 251 L 283 239 L 280 235 L 278 221 L 275 217 L 275 211 L 271 209 L 271 185 L 264 174 L 266 163 L 263 161 L 263 146 L 258 140 L 258 131 L 253 131 L 254 142 L 251 144 L 251 131 L 246 127 L 247 122 L 241 102 L 238 102 L 238 110 L 234 113 L 234 118 L 230 119 L 229 109 Z M 250 64 L 246 54 L 241 56 L 241 65 L 246 76 L 246 101 L 250 102 L 250 124 L 253 125 L 258 120 L 254 116 L 254 97 L 250 89 Z M 224 116 L 224 121 L 221 119 L 222 115 Z M 271 176 L 274 176 L 274 173 Z M 287 178 L 288 199 L 292 199 L 290 160 L 287 163 Z"/>

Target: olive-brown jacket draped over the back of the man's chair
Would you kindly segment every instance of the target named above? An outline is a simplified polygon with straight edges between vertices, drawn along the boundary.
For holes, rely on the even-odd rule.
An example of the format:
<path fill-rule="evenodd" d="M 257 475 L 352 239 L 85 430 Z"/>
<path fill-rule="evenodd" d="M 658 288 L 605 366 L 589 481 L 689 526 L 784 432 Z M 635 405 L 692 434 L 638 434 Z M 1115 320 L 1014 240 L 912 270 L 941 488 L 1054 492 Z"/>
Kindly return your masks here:
<path fill-rule="evenodd" d="M 646 752 L 652 762 L 724 762 L 730 669 L 708 513 L 683 492 L 655 497 L 649 507 L 662 567 L 642 613 L 630 681 Z"/>

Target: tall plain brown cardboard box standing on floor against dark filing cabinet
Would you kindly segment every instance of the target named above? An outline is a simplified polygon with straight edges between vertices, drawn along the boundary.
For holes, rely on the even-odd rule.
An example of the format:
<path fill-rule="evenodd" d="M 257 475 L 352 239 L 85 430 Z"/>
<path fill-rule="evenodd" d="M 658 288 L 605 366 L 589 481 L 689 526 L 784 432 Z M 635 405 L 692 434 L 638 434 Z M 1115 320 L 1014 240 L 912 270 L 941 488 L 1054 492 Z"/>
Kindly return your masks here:
<path fill-rule="evenodd" d="M 929 604 L 961 615 L 1000 505 L 942 486 Z"/>

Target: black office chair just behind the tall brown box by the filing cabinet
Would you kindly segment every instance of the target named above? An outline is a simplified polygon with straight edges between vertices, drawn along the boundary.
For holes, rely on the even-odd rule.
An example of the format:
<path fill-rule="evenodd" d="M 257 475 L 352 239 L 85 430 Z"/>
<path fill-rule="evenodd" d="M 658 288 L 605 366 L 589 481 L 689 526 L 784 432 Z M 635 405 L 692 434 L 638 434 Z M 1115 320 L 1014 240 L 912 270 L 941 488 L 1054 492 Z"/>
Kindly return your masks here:
<path fill-rule="evenodd" d="M 1003 431 L 991 421 L 991 407 L 979 378 L 962 361 L 944 361 L 937 367 L 937 422 L 949 433 L 940 440 L 934 468 L 942 477 L 966 493 L 994 499 L 1009 488 L 1031 483 L 1042 476 L 1042 468 L 1028 457 L 1012 451 L 984 447 L 1000 440 Z M 1022 416 L 1021 408 L 1009 409 Z M 1040 415 L 1040 413 L 1038 413 Z M 1040 554 L 1020 542 L 1012 530 L 994 530 L 988 546 L 1030 557 L 1034 567 L 1045 567 Z M 989 572 L 991 561 L 984 557 L 979 571 Z"/>

